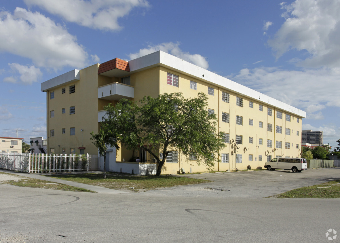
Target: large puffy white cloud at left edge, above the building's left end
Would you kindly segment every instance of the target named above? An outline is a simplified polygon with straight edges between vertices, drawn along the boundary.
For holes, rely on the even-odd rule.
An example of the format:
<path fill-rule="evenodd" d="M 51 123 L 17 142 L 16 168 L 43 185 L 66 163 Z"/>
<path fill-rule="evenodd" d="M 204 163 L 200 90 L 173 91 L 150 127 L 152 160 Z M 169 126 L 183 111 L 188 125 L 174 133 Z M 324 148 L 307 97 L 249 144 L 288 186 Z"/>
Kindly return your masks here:
<path fill-rule="evenodd" d="M 20 7 L 13 15 L 0 12 L 0 38 L 0 52 L 31 58 L 37 67 L 86 66 L 88 54 L 77 38 L 38 12 Z"/>

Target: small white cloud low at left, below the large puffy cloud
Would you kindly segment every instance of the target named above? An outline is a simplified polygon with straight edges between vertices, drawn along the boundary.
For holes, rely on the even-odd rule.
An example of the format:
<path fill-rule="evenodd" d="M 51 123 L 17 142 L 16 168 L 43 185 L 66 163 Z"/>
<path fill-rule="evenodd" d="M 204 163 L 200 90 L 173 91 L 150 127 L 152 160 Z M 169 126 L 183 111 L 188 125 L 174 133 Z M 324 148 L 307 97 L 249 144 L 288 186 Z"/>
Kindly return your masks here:
<path fill-rule="evenodd" d="M 38 82 L 43 73 L 41 73 L 39 68 L 32 66 L 22 66 L 18 63 L 11 63 L 11 69 L 15 72 L 19 72 L 21 74 L 20 80 L 24 84 L 32 84 L 34 82 Z"/>

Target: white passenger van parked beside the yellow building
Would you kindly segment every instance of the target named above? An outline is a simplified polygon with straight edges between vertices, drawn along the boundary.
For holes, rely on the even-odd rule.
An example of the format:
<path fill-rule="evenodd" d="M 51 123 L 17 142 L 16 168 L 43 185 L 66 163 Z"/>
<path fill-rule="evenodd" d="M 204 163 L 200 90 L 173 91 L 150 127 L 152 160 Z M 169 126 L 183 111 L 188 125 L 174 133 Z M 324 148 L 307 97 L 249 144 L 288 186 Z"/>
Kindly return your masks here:
<path fill-rule="evenodd" d="M 307 160 L 303 158 L 274 158 L 265 163 L 267 170 L 292 170 L 292 172 L 301 172 L 307 170 Z"/>

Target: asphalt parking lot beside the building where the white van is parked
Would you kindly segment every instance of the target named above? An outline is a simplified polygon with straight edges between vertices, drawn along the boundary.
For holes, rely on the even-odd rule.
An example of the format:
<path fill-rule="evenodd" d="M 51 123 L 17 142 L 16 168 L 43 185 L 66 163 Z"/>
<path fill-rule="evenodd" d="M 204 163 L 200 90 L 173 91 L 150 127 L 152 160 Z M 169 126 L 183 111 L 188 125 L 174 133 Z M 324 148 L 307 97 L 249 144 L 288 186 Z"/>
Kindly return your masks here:
<path fill-rule="evenodd" d="M 288 170 L 239 171 L 185 174 L 185 177 L 211 180 L 211 183 L 151 190 L 145 193 L 169 196 L 217 196 L 262 198 L 292 189 L 340 179 L 340 168 L 308 169 L 301 173 Z M 210 190 L 222 189 L 229 191 Z"/>

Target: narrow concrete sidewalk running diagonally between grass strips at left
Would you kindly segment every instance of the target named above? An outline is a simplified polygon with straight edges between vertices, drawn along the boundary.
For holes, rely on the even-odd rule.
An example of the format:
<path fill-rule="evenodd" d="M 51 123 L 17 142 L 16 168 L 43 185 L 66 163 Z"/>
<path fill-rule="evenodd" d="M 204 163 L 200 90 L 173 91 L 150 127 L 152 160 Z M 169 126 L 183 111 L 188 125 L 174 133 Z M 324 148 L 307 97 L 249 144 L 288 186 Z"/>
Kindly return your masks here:
<path fill-rule="evenodd" d="M 39 180 L 47 180 L 47 181 L 51 181 L 51 182 L 55 182 L 55 183 L 61 183 L 61 184 L 73 186 L 73 187 L 84 188 L 84 189 L 95 191 L 95 192 L 99 192 L 99 193 L 112 193 L 112 194 L 128 193 L 128 192 L 118 191 L 118 190 L 109 189 L 109 188 L 105 188 L 105 187 L 92 186 L 92 185 L 87 185 L 87 184 L 78 183 L 78 182 L 74 182 L 74 181 L 61 180 L 61 179 L 56 179 L 56 178 L 44 176 L 44 175 L 53 175 L 53 174 L 50 174 L 50 173 L 46 173 L 46 174 L 43 174 L 43 173 L 28 174 L 28 173 L 8 171 L 8 170 L 1 170 L 1 169 L 0 169 L 0 172 L 12 174 L 12 175 L 19 175 L 19 176 L 34 178 L 34 179 L 39 179 Z M 95 172 L 95 171 L 91 171 L 91 172 Z"/>

